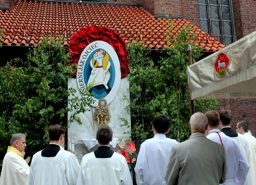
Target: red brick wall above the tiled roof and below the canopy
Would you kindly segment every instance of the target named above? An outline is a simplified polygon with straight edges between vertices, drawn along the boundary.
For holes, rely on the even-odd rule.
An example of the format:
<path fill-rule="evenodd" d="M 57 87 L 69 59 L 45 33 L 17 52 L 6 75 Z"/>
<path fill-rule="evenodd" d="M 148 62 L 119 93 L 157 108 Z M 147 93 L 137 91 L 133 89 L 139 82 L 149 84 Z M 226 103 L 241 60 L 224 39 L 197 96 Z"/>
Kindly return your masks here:
<path fill-rule="evenodd" d="M 123 0 L 120 1 L 122 3 Z M 166 11 L 171 17 L 184 17 L 195 26 L 200 27 L 199 6 L 200 0 L 142 0 L 142 6 L 150 10 L 155 16 L 165 16 Z M 216 0 L 215 0 L 216 1 Z M 221 3 L 227 0 L 221 0 Z M 207 1 L 206 1 L 207 2 Z M 219 3 L 218 1 L 217 3 Z M 208 2 L 211 3 L 211 0 Z M 236 41 L 251 32 L 256 31 L 256 1 L 233 0 L 230 6 L 233 12 L 233 32 Z M 202 27 L 200 27 L 202 29 Z M 204 30 L 204 29 L 202 29 Z M 205 30 L 204 30 L 205 31 Z M 232 115 L 231 127 L 235 128 L 241 120 L 250 125 L 252 135 L 256 134 L 256 100 L 255 99 L 219 99 L 220 106 L 216 110 L 227 109 Z"/>

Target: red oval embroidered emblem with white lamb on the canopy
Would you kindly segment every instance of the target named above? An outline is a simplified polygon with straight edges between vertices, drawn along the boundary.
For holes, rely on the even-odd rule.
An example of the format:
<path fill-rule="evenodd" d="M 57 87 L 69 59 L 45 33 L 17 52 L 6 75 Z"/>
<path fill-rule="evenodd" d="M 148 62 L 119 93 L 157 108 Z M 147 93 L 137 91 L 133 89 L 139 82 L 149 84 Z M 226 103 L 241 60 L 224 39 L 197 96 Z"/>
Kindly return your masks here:
<path fill-rule="evenodd" d="M 220 52 L 218 57 L 215 59 L 215 73 L 219 77 L 224 77 L 228 71 L 230 64 L 230 57 L 226 52 Z"/>

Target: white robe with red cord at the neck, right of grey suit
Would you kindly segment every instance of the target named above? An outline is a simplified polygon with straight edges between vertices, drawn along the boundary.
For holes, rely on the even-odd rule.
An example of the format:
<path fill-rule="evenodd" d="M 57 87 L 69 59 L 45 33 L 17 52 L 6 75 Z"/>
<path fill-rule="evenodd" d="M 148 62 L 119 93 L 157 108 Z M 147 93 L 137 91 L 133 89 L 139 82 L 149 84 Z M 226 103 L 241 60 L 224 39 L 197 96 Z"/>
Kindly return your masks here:
<path fill-rule="evenodd" d="M 226 136 L 219 129 L 209 131 L 208 139 L 223 145 L 226 153 L 227 175 L 223 185 L 244 185 L 250 165 L 242 153 L 238 143 Z"/>

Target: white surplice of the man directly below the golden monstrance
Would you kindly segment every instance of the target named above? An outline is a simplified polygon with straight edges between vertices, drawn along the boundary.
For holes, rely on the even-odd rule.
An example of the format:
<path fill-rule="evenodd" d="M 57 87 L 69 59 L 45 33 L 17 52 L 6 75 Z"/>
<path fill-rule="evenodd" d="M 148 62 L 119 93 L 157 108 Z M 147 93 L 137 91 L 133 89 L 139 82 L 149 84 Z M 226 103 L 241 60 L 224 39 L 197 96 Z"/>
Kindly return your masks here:
<path fill-rule="evenodd" d="M 110 158 L 96 158 L 94 152 L 84 155 L 77 185 L 132 185 L 126 159 L 116 152 Z"/>

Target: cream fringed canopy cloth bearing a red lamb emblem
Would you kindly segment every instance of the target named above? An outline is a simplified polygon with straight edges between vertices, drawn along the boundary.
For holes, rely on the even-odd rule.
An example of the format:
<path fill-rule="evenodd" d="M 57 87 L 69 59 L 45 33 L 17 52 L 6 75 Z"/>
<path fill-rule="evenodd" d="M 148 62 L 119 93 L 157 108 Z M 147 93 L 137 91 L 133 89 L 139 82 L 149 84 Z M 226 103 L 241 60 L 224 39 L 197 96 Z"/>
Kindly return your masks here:
<path fill-rule="evenodd" d="M 191 99 L 256 98 L 256 32 L 187 67 Z"/>

